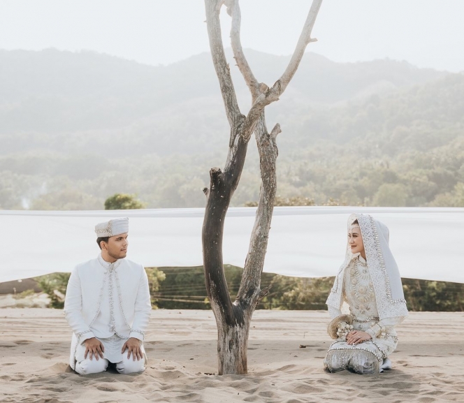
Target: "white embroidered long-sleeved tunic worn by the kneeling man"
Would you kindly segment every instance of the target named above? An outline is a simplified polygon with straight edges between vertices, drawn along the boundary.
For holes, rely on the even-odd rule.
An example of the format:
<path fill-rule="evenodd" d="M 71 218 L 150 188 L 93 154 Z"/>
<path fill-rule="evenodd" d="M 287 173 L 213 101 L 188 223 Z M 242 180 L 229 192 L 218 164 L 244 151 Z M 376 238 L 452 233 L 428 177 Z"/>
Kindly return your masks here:
<path fill-rule="evenodd" d="M 142 265 L 125 258 L 108 263 L 99 256 L 76 266 L 64 302 L 66 320 L 73 329 L 71 368 L 75 369 L 76 352 L 82 350 L 82 343 L 92 337 L 105 346 L 104 358 L 121 361 L 126 339 L 136 337 L 143 342 L 151 309 Z"/>

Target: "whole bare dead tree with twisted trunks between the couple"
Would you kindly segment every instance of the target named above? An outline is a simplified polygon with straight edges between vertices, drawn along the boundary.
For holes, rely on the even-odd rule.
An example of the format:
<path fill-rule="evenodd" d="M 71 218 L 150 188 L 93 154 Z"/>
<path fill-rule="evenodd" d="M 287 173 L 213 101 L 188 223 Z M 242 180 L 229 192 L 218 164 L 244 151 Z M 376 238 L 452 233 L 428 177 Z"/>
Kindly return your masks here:
<path fill-rule="evenodd" d="M 247 373 L 249 324 L 256 305 L 268 293 L 268 288 L 261 290 L 260 284 L 277 188 L 276 137 L 280 133 L 280 125 L 276 124 L 274 129 L 268 133 L 264 108 L 279 99 L 293 78 L 307 44 L 316 41 L 316 39 L 311 38 L 311 31 L 321 2 L 322 0 L 312 1 L 310 12 L 289 65 L 273 87 L 268 87 L 256 80 L 242 51 L 238 0 L 205 0 L 206 24 L 212 61 L 219 79 L 226 115 L 231 126 L 226 165 L 223 170 L 220 168 L 210 170 L 210 188 L 204 189 L 208 201 L 202 232 L 203 264 L 206 290 L 217 323 L 219 374 Z M 219 12 L 224 5 L 232 18 L 231 45 L 233 55 L 252 94 L 252 107 L 247 115 L 242 115 L 238 107 L 229 64 L 227 64 L 224 54 L 219 22 Z M 261 191 L 240 289 L 235 301 L 232 302 L 224 276 L 222 259 L 224 219 L 233 192 L 240 181 L 247 155 L 247 145 L 252 133 L 255 135 L 259 149 Z"/>

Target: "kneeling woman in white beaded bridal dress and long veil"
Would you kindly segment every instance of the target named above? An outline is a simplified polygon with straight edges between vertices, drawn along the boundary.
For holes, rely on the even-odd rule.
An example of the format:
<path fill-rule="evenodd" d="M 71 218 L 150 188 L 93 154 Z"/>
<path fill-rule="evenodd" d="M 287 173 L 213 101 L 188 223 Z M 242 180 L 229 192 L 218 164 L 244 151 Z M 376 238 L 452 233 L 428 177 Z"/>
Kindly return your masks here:
<path fill-rule="evenodd" d="M 375 374 L 391 368 L 395 326 L 407 316 L 401 277 L 389 247 L 389 229 L 368 214 L 351 214 L 348 245 L 331 293 L 324 359 L 329 372 Z"/>

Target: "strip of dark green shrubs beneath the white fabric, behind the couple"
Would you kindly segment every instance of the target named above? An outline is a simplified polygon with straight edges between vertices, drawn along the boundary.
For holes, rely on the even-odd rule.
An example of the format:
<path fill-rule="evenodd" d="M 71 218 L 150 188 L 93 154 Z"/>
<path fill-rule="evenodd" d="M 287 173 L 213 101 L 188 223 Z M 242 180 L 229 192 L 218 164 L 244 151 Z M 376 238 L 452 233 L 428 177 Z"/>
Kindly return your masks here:
<path fill-rule="evenodd" d="M 147 268 L 152 306 L 164 309 L 210 309 L 203 268 Z M 231 298 L 238 292 L 242 268 L 225 265 Z M 62 308 L 69 273 L 38 277 L 39 286 L 50 295 L 51 307 Z M 335 277 L 300 278 L 263 273 L 263 285 L 270 293 L 258 309 L 327 309 L 326 299 Z M 407 308 L 413 312 L 464 312 L 464 284 L 446 281 L 402 279 Z"/>

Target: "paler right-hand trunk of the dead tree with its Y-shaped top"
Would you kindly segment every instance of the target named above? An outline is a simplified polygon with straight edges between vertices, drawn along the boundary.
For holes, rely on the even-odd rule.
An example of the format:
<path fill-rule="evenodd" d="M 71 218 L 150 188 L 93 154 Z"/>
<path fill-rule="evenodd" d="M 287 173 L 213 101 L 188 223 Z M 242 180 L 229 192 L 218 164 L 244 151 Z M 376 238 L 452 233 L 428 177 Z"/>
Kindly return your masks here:
<path fill-rule="evenodd" d="M 245 262 L 245 269 L 240 283 L 237 300 L 243 305 L 248 305 L 249 309 L 254 309 L 255 303 L 259 302 L 263 295 L 260 292 L 261 274 L 266 256 L 268 245 L 268 234 L 270 222 L 272 220 L 275 192 L 277 189 L 277 177 L 275 172 L 275 162 L 277 159 L 278 149 L 276 144 L 277 135 L 281 132 L 280 125 L 276 124 L 273 130 L 268 133 L 266 129 L 266 119 L 264 108 L 266 105 L 277 101 L 279 96 L 289 85 L 289 82 L 296 73 L 305 48 L 308 43 L 315 41 L 311 39 L 312 28 L 319 12 L 322 0 L 313 0 L 310 12 L 307 15 L 305 25 L 298 39 L 296 49 L 293 52 L 291 60 L 286 70 L 279 80 L 275 82 L 272 88 L 266 85 L 258 85 L 247 59 L 242 50 L 240 43 L 240 6 L 238 0 L 226 0 L 226 6 L 229 8 L 229 14 L 232 17 L 232 49 L 238 68 L 245 79 L 251 93 L 253 106 L 249 110 L 245 122 L 242 126 L 242 136 L 245 142 L 252 135 L 253 131 L 256 137 L 256 143 L 259 149 L 260 170 L 261 170 L 261 191 L 259 194 L 259 205 L 256 210 L 256 219 L 252 236 L 249 242 L 249 251 Z"/>

